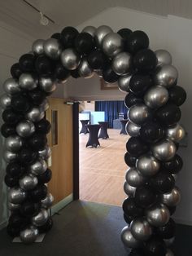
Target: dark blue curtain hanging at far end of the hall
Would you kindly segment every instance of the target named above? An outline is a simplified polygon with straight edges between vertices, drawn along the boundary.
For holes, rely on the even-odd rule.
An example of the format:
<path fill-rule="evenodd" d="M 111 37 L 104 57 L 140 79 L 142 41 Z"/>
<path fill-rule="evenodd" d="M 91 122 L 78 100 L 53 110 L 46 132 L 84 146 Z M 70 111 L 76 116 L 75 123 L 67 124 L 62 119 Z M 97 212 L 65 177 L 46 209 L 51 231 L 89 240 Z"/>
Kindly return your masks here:
<path fill-rule="evenodd" d="M 127 110 L 123 100 L 95 101 L 95 111 L 105 112 L 105 121 L 109 122 L 109 128 L 113 128 L 113 120 L 118 119 L 120 113 L 127 119 Z"/>

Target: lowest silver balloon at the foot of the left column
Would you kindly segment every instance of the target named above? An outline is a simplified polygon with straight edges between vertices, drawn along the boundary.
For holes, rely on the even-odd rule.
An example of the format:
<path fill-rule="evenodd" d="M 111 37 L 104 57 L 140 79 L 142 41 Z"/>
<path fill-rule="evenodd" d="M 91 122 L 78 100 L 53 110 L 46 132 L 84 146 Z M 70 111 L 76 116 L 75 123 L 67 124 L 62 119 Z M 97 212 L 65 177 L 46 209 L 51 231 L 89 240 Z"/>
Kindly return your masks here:
<path fill-rule="evenodd" d="M 20 232 L 20 240 L 24 244 L 32 244 L 36 241 L 38 236 L 37 227 L 26 227 L 24 230 Z"/>

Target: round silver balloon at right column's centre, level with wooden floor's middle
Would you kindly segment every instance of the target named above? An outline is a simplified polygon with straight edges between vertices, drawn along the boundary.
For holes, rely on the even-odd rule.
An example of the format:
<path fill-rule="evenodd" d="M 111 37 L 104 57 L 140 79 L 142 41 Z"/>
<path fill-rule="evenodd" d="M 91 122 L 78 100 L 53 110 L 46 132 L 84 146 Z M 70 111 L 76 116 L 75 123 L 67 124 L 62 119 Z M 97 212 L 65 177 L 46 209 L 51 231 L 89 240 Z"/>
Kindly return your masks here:
<path fill-rule="evenodd" d="M 136 161 L 137 170 L 146 177 L 154 176 L 159 172 L 159 161 L 150 154 L 139 157 Z"/>

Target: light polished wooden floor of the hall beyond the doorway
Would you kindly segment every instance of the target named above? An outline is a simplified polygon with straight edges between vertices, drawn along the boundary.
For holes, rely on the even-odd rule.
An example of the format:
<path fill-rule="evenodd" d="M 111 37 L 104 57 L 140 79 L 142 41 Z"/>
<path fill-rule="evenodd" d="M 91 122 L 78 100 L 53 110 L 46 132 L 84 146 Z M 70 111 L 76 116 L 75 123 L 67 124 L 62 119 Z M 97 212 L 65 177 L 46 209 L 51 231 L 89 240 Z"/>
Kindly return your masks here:
<path fill-rule="evenodd" d="M 125 143 L 128 135 L 120 130 L 108 129 L 110 139 L 99 139 L 101 147 L 85 148 L 89 134 L 80 135 L 80 199 L 122 205 Z"/>

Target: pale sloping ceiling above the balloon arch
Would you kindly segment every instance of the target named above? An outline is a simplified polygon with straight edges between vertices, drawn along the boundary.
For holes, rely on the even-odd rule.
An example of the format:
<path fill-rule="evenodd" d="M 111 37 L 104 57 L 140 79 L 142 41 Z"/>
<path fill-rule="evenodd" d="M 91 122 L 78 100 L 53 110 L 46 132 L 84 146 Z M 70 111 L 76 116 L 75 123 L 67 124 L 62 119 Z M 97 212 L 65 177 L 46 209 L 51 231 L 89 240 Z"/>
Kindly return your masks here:
<path fill-rule="evenodd" d="M 39 24 L 40 15 L 24 0 L 0 0 L 0 21 L 33 38 L 46 38 L 67 25 L 77 26 L 110 7 L 126 7 L 154 15 L 177 15 L 192 20 L 191 0 L 26 0 L 54 20 Z"/>

